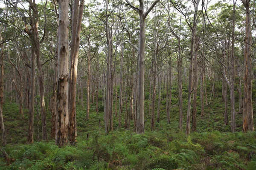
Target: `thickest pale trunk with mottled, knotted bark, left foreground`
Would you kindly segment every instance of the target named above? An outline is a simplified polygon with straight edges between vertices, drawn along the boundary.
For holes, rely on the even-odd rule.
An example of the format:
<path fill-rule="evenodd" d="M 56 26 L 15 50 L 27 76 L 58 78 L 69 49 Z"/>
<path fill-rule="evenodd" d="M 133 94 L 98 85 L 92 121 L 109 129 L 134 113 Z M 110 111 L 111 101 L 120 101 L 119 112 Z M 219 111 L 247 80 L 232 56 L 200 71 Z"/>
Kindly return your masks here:
<path fill-rule="evenodd" d="M 59 1 L 58 83 L 55 144 L 68 144 L 68 7 L 69 1 Z"/>

